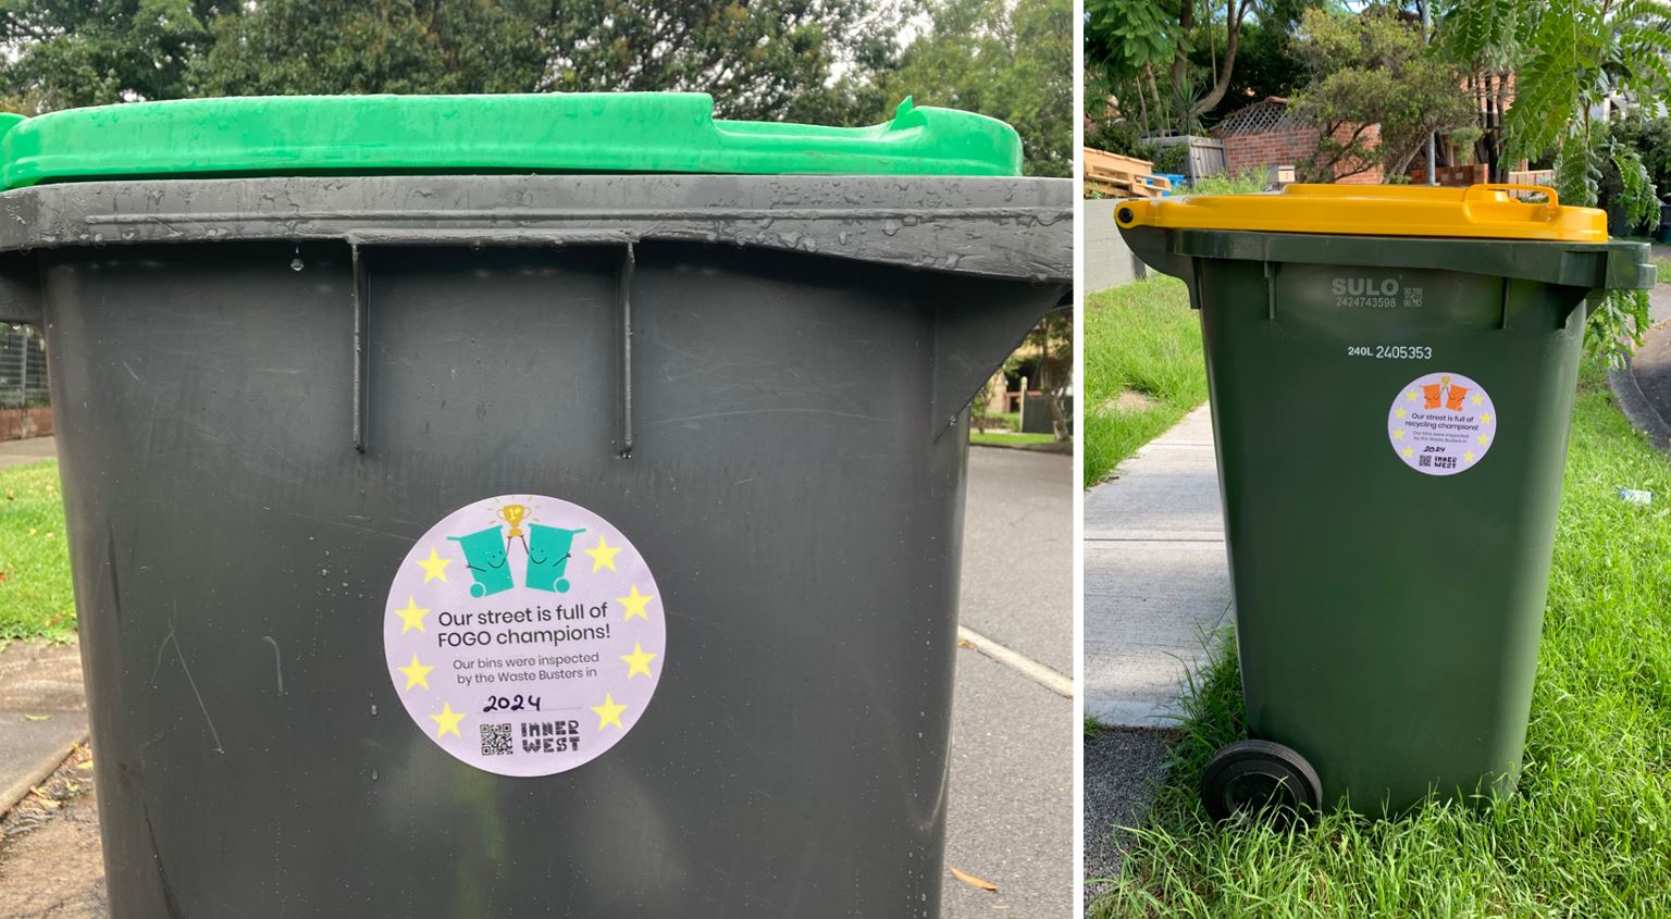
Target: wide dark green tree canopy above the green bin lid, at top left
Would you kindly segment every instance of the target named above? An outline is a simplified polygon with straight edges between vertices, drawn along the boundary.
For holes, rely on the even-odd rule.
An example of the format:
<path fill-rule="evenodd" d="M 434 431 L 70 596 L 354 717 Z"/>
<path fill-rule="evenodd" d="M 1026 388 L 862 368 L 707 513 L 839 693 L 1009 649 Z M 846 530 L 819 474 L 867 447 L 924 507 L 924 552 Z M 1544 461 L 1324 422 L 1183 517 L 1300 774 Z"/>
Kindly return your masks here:
<path fill-rule="evenodd" d="M 852 124 L 914 0 L 13 0 L 30 112 L 190 95 L 692 90 L 720 117 Z M 1066 57 L 1063 60 L 1068 60 Z M 897 102 L 897 100 L 896 100 Z"/>

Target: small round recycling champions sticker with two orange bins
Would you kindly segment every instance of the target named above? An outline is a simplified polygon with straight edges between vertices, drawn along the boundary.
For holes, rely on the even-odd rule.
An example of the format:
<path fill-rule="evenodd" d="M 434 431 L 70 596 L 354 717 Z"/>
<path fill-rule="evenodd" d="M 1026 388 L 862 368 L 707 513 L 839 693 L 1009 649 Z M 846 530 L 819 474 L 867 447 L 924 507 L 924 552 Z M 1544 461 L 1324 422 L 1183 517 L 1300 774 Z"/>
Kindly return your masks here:
<path fill-rule="evenodd" d="M 1405 466 L 1450 476 L 1486 458 L 1497 439 L 1497 408 L 1484 386 L 1459 373 L 1424 374 L 1392 399 L 1387 439 Z"/>

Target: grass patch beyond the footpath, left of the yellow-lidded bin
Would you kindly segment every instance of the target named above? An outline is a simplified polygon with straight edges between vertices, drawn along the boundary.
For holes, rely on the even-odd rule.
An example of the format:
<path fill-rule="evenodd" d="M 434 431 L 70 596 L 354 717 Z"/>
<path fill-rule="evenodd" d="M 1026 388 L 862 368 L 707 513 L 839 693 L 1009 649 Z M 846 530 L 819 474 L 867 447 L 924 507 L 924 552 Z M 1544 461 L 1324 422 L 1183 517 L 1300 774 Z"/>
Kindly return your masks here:
<path fill-rule="evenodd" d="M 1181 281 L 1158 277 L 1086 297 L 1084 396 L 1086 488 L 1206 401 L 1201 324 Z"/>

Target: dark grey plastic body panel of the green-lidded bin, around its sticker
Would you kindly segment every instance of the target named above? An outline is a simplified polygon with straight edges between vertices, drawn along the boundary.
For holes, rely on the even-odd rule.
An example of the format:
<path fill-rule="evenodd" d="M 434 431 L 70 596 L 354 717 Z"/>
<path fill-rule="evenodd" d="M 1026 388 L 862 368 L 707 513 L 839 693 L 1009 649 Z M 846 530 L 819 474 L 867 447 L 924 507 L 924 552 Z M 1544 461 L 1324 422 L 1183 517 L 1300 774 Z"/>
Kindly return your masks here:
<path fill-rule="evenodd" d="M 115 919 L 936 916 L 968 414 L 936 317 L 1061 284 L 819 256 L 40 256 Z M 1001 354 L 994 354 L 994 363 Z M 608 754 L 465 765 L 403 712 L 383 600 L 446 513 L 618 525 L 667 668 Z"/>

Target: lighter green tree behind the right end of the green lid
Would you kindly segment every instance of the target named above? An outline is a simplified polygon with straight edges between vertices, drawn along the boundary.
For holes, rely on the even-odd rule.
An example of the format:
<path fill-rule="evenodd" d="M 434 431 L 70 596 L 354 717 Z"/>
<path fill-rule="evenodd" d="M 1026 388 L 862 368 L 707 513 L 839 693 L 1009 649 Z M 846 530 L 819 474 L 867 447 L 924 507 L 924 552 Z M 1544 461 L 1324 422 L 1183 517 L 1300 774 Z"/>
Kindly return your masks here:
<path fill-rule="evenodd" d="M 1009 122 L 1021 134 L 1029 175 L 1069 175 L 1071 0 L 939 0 L 929 15 L 931 28 L 904 50 L 899 69 L 879 80 L 882 100 L 914 95 L 919 105 Z"/>

